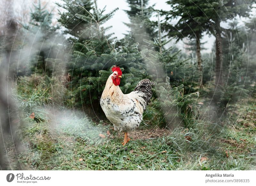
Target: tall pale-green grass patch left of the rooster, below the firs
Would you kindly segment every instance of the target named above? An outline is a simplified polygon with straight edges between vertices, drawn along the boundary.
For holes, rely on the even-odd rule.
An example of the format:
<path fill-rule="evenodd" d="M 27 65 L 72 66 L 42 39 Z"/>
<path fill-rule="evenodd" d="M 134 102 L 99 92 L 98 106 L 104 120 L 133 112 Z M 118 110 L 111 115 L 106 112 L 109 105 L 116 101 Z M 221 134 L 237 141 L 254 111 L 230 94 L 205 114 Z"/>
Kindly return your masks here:
<path fill-rule="evenodd" d="M 59 77 L 19 77 L 15 92 L 18 109 L 25 118 L 32 117 L 37 122 L 48 120 L 48 112 L 52 107 L 61 109 L 72 105 L 72 100 L 68 99 L 70 91 Z"/>

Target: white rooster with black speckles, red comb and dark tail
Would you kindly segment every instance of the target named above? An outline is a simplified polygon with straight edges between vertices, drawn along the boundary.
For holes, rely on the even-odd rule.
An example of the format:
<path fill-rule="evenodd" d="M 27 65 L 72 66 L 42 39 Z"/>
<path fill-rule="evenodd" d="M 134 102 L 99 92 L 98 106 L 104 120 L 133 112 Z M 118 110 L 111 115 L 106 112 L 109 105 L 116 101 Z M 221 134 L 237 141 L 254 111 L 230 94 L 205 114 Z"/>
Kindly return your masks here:
<path fill-rule="evenodd" d="M 125 145 L 131 140 L 128 137 L 128 132 L 139 127 L 142 121 L 142 114 L 152 96 L 154 82 L 143 79 L 134 91 L 123 94 L 119 88 L 122 71 L 119 67 L 114 66 L 112 72 L 100 98 L 100 106 L 108 120 L 113 123 L 114 130 L 124 132 L 122 144 Z"/>

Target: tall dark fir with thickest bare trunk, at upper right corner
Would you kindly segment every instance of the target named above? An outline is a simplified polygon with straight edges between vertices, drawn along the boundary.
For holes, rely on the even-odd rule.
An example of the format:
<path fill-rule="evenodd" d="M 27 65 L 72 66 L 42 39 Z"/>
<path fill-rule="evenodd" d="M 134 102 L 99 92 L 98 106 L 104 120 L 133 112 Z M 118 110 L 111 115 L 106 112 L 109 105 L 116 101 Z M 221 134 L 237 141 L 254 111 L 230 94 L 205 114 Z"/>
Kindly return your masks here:
<path fill-rule="evenodd" d="M 228 21 L 235 18 L 237 15 L 248 16 L 252 9 L 252 0 L 243 1 L 220 1 L 220 0 L 210 0 L 208 3 L 202 1 L 196 3 L 201 11 L 204 12 L 205 16 L 208 18 L 210 23 L 208 29 L 211 31 L 212 35 L 215 36 L 215 84 L 223 85 L 223 46 L 222 46 L 222 30 L 220 27 L 221 21 Z M 198 11 L 200 11 L 198 10 Z"/>

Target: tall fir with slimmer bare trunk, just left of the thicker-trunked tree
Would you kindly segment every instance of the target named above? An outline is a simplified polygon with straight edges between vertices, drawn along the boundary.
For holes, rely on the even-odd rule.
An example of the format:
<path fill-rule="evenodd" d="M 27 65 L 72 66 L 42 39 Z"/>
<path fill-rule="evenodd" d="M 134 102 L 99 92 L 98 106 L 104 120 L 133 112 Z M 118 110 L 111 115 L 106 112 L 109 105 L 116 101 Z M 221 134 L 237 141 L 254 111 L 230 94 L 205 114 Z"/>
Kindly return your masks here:
<path fill-rule="evenodd" d="M 200 40 L 208 24 L 208 19 L 203 12 L 197 11 L 197 7 L 192 1 L 187 0 L 174 0 L 167 1 L 167 4 L 172 6 L 171 11 L 161 11 L 165 16 L 165 23 L 163 24 L 164 30 L 168 36 L 177 38 L 177 41 L 182 40 L 184 37 L 195 39 L 196 41 L 196 56 L 197 66 L 199 72 L 202 72 L 202 59 L 201 59 L 201 45 Z M 172 19 L 178 19 L 175 25 L 168 23 Z"/>

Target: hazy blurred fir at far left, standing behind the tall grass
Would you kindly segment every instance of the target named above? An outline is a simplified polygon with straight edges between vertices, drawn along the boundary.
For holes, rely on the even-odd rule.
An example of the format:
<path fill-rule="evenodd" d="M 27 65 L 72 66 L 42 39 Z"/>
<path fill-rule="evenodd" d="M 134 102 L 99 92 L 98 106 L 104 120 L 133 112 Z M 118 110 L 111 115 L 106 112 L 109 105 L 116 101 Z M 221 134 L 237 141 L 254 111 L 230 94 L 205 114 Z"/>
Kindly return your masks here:
<path fill-rule="evenodd" d="M 52 12 L 46 10 L 47 4 L 42 6 L 39 0 L 37 4 L 33 5 L 34 9 L 30 12 L 30 22 L 28 25 L 23 25 L 23 28 L 27 30 L 25 31 L 25 40 L 28 44 L 32 43 L 30 49 L 33 49 L 33 51 L 31 50 L 31 59 L 29 57 L 29 60 L 25 60 L 31 61 L 32 72 L 51 76 L 53 67 L 56 65 L 52 62 L 55 62 L 54 59 L 57 58 L 60 49 L 57 45 L 57 37 L 60 37 L 57 33 L 59 26 L 52 25 Z M 30 41 L 31 38 L 34 42 Z"/>

